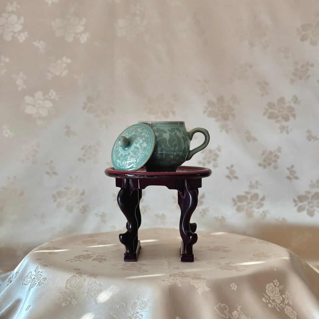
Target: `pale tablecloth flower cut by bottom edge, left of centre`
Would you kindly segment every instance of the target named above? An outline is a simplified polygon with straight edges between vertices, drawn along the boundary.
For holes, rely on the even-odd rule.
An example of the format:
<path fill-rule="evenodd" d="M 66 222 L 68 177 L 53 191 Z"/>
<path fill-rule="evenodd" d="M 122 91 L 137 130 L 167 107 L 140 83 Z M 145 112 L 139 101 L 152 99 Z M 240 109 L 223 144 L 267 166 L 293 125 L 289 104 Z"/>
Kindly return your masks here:
<path fill-rule="evenodd" d="M 113 307 L 111 313 L 116 319 L 142 319 L 143 314 L 151 309 L 151 301 L 148 299 L 141 299 L 139 294 L 136 295 L 136 300 L 131 304 L 131 307 L 127 309 L 124 302 L 120 302 Z M 147 315 L 146 315 L 147 317 Z"/>

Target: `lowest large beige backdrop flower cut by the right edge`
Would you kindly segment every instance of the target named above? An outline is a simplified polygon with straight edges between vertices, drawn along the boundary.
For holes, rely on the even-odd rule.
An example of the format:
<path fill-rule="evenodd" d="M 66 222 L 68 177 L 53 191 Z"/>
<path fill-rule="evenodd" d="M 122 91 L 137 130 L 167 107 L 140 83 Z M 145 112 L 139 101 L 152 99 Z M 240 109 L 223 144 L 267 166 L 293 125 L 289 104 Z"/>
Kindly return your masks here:
<path fill-rule="evenodd" d="M 293 203 L 299 213 L 306 211 L 307 215 L 314 217 L 315 212 L 319 212 L 319 179 L 316 182 L 311 181 L 309 189 L 294 198 Z"/>

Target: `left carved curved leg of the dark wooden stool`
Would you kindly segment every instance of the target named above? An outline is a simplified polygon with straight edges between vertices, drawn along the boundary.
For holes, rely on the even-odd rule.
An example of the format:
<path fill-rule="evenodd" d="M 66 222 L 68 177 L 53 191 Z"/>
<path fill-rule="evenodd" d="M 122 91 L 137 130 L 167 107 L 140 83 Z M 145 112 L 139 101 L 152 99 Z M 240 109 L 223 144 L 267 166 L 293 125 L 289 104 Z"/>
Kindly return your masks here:
<path fill-rule="evenodd" d="M 117 195 L 117 203 L 127 219 L 127 231 L 120 234 L 121 243 L 125 246 L 124 261 L 137 261 L 138 253 L 140 251 L 140 242 L 138 240 L 138 227 L 141 225 L 141 217 L 139 208 L 139 190 L 131 191 L 130 179 L 123 179 L 122 187 Z M 136 216 L 136 211 L 137 215 Z"/>

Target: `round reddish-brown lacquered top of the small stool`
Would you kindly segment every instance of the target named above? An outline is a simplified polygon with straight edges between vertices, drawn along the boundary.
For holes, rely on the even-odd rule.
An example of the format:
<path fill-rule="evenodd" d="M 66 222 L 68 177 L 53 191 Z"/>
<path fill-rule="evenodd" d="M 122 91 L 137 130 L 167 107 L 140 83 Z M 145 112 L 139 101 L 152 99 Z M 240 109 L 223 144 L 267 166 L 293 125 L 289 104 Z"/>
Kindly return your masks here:
<path fill-rule="evenodd" d="M 147 172 L 145 167 L 137 171 L 118 171 L 114 167 L 105 170 L 105 174 L 116 178 L 158 178 L 158 179 L 184 179 L 203 178 L 211 175 L 211 170 L 205 167 L 180 166 L 176 172 Z"/>

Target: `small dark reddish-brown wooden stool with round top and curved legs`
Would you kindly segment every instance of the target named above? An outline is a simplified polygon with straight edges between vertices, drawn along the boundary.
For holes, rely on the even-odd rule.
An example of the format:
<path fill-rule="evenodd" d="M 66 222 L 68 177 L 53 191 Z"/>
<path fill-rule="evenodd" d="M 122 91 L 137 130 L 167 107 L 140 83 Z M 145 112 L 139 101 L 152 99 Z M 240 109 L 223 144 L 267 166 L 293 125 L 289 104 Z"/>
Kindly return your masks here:
<path fill-rule="evenodd" d="M 178 190 L 178 205 L 181 208 L 181 261 L 194 261 L 193 245 L 197 242 L 197 225 L 190 223 L 190 218 L 197 206 L 198 188 L 202 187 L 202 178 L 211 174 L 209 168 L 180 166 L 176 172 L 146 172 L 143 167 L 129 172 L 117 171 L 110 167 L 105 170 L 105 174 L 115 177 L 116 186 L 121 188 L 117 195 L 117 203 L 127 219 L 127 231 L 119 235 L 126 249 L 124 261 L 137 261 L 141 249 L 138 240 L 138 228 L 141 226 L 139 202 L 142 189 L 150 185 L 162 185 L 168 189 Z"/>

